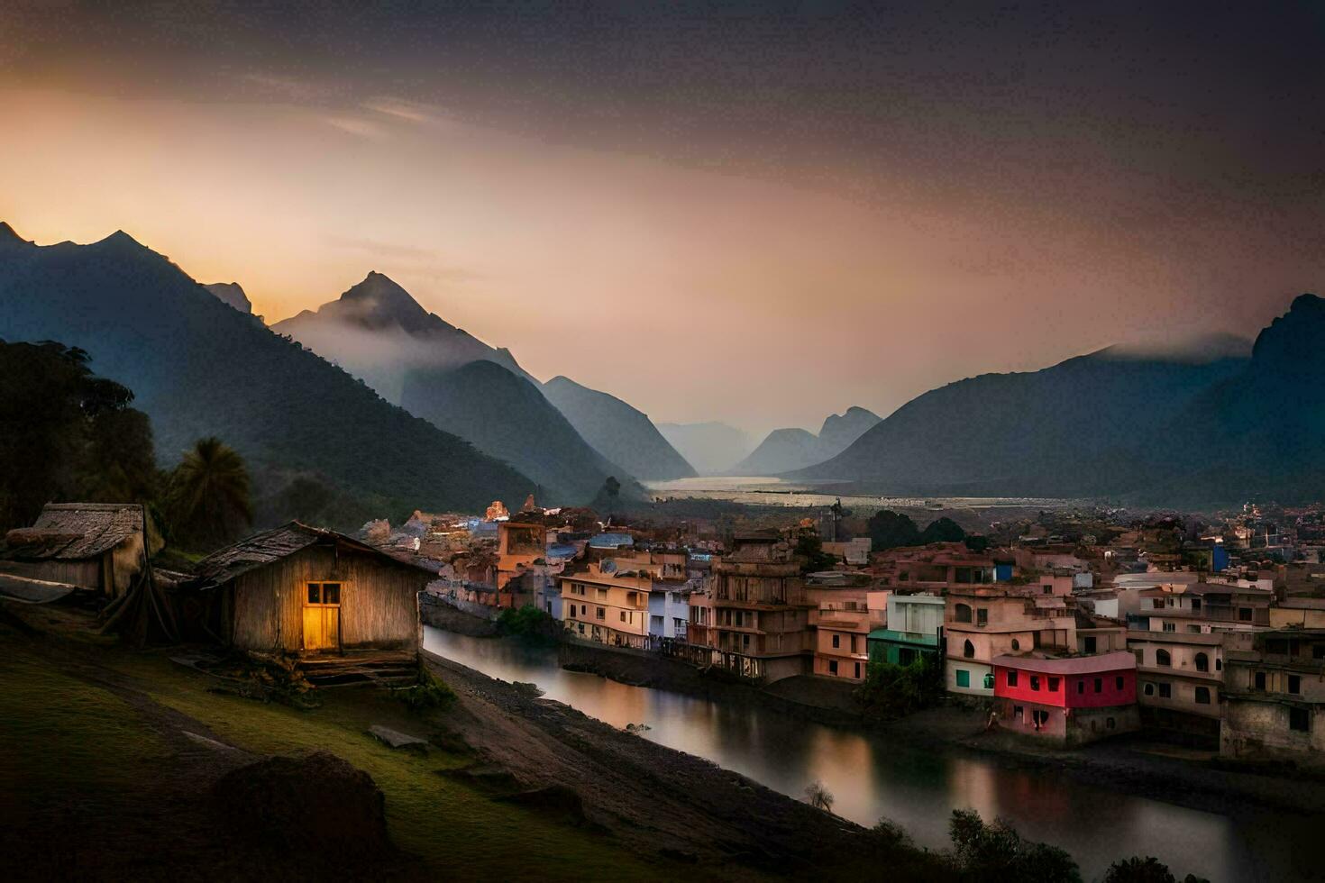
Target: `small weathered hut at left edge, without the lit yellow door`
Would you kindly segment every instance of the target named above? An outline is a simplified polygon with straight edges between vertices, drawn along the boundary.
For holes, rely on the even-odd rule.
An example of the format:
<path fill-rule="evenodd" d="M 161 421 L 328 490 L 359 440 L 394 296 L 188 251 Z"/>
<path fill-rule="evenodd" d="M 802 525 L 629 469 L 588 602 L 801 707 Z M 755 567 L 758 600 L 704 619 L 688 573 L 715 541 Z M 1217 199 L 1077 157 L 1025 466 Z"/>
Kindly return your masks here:
<path fill-rule="evenodd" d="M 160 530 L 138 503 L 46 503 L 32 527 L 5 535 L 0 573 L 117 598 L 162 545 Z"/>

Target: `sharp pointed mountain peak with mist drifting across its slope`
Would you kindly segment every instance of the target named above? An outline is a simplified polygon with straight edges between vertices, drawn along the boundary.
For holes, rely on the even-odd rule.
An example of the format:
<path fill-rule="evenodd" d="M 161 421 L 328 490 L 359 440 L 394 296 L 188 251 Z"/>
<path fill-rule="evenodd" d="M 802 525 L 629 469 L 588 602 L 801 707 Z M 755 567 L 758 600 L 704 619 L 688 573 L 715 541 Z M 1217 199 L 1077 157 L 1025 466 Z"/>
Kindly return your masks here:
<path fill-rule="evenodd" d="M 408 291 L 380 273 L 323 303 L 272 326 L 348 371 L 400 404 L 401 387 L 416 368 L 458 368 L 492 361 L 538 383 L 509 349 L 489 347 L 478 338 L 424 310 Z"/>

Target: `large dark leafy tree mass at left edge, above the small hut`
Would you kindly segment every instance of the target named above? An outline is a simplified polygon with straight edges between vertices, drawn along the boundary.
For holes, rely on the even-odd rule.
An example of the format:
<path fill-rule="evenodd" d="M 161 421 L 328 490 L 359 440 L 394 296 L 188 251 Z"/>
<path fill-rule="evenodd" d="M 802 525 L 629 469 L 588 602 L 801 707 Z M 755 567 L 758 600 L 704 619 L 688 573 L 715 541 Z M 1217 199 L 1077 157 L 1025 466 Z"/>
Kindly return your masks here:
<path fill-rule="evenodd" d="M 0 340 L 0 528 L 53 500 L 148 502 L 159 483 L 134 393 L 60 343 Z"/>

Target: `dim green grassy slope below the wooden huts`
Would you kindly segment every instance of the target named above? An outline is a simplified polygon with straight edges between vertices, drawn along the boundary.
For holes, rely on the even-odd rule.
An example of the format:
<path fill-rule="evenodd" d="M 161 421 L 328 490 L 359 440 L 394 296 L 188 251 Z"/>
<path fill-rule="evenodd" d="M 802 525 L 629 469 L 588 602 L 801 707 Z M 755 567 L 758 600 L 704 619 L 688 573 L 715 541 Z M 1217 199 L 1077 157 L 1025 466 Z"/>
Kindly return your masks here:
<path fill-rule="evenodd" d="M 429 729 L 382 692 L 325 691 L 321 708 L 298 711 L 207 692 L 208 679 L 163 655 L 95 653 L 99 665 L 146 683 L 151 699 L 238 748 L 260 755 L 322 748 L 367 770 L 386 794 L 392 839 L 431 875 L 568 880 L 655 879 L 666 872 L 611 838 L 546 821 L 437 774 L 472 763 L 468 755 L 433 749 L 419 756 L 380 745 L 364 732 L 370 724 Z M 8 809 L 16 810 L 15 818 L 70 788 L 122 793 L 160 776 L 170 760 L 134 707 L 53 669 L 3 625 L 0 683 L 0 740 L 7 745 L 0 780 L 13 798 Z"/>

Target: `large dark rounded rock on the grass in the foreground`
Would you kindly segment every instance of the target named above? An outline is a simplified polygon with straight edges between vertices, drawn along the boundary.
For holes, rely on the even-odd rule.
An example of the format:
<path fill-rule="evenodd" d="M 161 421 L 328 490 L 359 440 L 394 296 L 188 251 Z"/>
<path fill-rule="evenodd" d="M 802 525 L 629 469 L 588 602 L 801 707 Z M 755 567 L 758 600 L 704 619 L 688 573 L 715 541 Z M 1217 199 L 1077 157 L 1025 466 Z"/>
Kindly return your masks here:
<path fill-rule="evenodd" d="M 212 796 L 241 835 L 326 868 L 395 853 L 376 782 L 325 751 L 240 767 L 216 782 Z"/>

